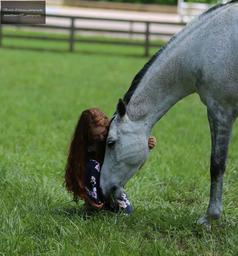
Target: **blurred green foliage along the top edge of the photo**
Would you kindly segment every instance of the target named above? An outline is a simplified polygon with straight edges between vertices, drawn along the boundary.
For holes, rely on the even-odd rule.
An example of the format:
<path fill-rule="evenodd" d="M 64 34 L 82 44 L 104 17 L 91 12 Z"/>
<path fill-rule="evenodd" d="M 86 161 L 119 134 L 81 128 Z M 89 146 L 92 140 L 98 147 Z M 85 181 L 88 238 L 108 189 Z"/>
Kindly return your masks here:
<path fill-rule="evenodd" d="M 94 0 L 94 1 L 134 3 L 134 4 L 164 4 L 164 5 L 178 4 L 178 0 Z M 217 0 L 185 0 L 185 2 L 217 4 Z"/>

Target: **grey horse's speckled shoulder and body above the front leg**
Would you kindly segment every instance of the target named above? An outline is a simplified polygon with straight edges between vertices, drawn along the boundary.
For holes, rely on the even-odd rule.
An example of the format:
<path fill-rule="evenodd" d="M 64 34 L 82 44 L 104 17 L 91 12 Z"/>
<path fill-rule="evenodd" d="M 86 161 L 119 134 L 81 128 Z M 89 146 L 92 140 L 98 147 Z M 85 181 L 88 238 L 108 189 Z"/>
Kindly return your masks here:
<path fill-rule="evenodd" d="M 204 104 L 212 97 L 238 106 L 238 4 L 207 18 L 190 35 L 194 86 Z"/>

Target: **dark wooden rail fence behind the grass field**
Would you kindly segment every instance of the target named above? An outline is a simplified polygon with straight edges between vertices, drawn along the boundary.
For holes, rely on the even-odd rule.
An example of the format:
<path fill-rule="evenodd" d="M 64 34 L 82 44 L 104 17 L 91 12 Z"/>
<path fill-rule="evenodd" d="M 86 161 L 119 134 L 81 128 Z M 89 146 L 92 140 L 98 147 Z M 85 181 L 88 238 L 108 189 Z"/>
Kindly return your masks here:
<path fill-rule="evenodd" d="M 14 24 L 14 26 L 17 27 L 27 27 L 27 28 L 47 28 L 47 29 L 67 29 L 69 30 L 69 37 L 68 38 L 56 38 L 52 36 L 23 36 L 23 35 L 7 35 L 3 33 L 2 27 L 7 28 L 9 25 L 8 24 L 0 24 L 0 47 L 5 47 L 5 48 L 14 48 L 14 49 L 35 49 L 35 50 L 51 50 L 52 49 L 44 49 L 44 48 L 27 48 L 27 47 L 17 47 L 17 46 L 7 46 L 2 44 L 2 39 L 3 38 L 22 38 L 22 39 L 37 39 L 37 40 L 52 40 L 52 41 L 66 41 L 69 43 L 69 52 L 74 52 L 74 44 L 75 43 L 97 43 L 97 44 L 118 44 L 118 45 L 135 45 L 135 46 L 142 46 L 144 47 L 144 56 L 149 56 L 149 49 L 150 47 L 161 47 L 162 45 L 159 44 L 152 44 L 150 42 L 150 35 L 155 35 L 155 36 L 173 36 L 172 34 L 169 33 L 152 33 L 150 31 L 150 25 L 151 24 L 157 24 L 157 25 L 178 25 L 178 26 L 184 26 L 186 23 L 181 22 L 181 23 L 170 23 L 170 22 L 154 22 L 154 21 L 143 21 L 143 20 L 120 20 L 120 19 L 104 19 L 104 18 L 89 18 L 89 17 L 78 17 L 78 16 L 65 16 L 65 15 L 55 15 L 55 14 L 47 14 L 46 17 L 54 17 L 54 18 L 59 18 L 59 19 L 70 19 L 70 26 L 57 26 L 57 25 L 49 25 L 49 24 Z M 129 22 L 130 26 L 128 30 L 116 30 L 116 29 L 104 29 L 104 28 L 86 28 L 86 27 L 75 27 L 75 20 L 104 20 L 104 21 L 119 21 L 119 22 Z M 134 23 L 145 23 L 145 30 L 144 31 L 134 31 L 132 30 L 132 25 Z M 11 24 L 12 26 L 12 24 Z M 123 33 L 123 34 L 139 34 L 139 35 L 144 35 L 144 42 L 139 43 L 139 42 L 133 42 L 130 40 L 126 41 L 121 41 L 121 40 L 98 40 L 98 39 L 76 39 L 75 38 L 75 32 L 76 31 L 90 31 L 90 32 L 107 32 L 107 33 Z M 53 50 L 54 51 L 54 50 Z"/>

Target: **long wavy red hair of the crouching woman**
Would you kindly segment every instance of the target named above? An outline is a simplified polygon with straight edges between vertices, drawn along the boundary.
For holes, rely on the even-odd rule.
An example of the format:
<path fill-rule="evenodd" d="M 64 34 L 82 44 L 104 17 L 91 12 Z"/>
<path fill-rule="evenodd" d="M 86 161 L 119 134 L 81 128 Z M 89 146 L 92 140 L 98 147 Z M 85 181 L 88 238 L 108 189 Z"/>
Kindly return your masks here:
<path fill-rule="evenodd" d="M 69 154 L 65 165 L 64 184 L 68 193 L 73 195 L 74 201 L 79 198 L 88 200 L 84 187 L 84 169 L 87 161 L 87 147 L 93 140 L 90 130 L 93 126 L 103 125 L 108 128 L 108 117 L 98 108 L 84 110 L 79 116 L 71 138 Z M 103 164 L 106 140 L 100 143 L 100 152 L 93 160 Z M 92 158 L 90 158 L 92 159 Z"/>

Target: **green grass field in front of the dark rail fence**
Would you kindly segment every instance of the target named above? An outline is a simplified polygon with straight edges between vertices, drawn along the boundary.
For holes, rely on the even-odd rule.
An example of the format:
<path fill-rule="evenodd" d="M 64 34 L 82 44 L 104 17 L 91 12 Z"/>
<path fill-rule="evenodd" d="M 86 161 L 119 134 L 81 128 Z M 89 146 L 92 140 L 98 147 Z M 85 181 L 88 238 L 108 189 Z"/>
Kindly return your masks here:
<path fill-rule="evenodd" d="M 208 205 L 211 151 L 196 94 L 154 127 L 157 146 L 125 187 L 134 214 L 85 220 L 83 202 L 62 186 L 69 137 L 84 109 L 111 117 L 148 59 L 3 48 L 0 55 L 0 255 L 237 255 L 237 124 L 222 217 L 210 231 L 195 224 Z"/>

